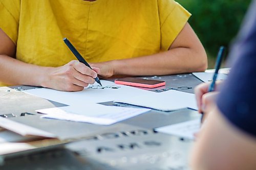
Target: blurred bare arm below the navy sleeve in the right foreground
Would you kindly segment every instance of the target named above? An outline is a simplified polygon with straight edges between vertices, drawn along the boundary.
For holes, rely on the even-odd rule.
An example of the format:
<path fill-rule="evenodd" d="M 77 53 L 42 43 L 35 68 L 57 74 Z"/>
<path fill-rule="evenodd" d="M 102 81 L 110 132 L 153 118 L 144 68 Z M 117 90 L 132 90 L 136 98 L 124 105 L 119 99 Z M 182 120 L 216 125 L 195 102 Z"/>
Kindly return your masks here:
<path fill-rule="evenodd" d="M 256 138 L 231 125 L 216 107 L 196 141 L 191 165 L 195 170 L 253 170 Z"/>

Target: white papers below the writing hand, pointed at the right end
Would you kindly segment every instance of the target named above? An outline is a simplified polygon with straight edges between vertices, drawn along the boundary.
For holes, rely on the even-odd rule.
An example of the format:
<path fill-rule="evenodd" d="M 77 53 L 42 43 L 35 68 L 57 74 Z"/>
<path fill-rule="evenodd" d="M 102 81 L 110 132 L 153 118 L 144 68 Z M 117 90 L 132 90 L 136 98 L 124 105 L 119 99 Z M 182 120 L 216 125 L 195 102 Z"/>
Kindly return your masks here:
<path fill-rule="evenodd" d="M 55 118 L 75 122 L 86 122 L 99 125 L 111 125 L 121 120 L 137 116 L 150 111 L 145 108 L 128 108 L 117 106 L 105 106 L 101 104 L 84 104 L 82 106 L 65 106 L 36 110 L 44 118 Z"/>

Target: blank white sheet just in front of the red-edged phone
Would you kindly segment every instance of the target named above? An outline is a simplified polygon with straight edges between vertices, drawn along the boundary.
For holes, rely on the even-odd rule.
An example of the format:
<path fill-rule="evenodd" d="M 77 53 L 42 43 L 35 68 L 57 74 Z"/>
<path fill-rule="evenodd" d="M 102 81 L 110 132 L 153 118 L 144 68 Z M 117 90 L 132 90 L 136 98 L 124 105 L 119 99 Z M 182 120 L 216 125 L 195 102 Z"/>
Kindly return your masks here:
<path fill-rule="evenodd" d="M 136 98 L 120 98 L 115 102 L 142 106 L 162 111 L 173 111 L 183 108 L 197 110 L 195 94 L 177 90 L 168 90 L 160 93 L 145 93 Z"/>

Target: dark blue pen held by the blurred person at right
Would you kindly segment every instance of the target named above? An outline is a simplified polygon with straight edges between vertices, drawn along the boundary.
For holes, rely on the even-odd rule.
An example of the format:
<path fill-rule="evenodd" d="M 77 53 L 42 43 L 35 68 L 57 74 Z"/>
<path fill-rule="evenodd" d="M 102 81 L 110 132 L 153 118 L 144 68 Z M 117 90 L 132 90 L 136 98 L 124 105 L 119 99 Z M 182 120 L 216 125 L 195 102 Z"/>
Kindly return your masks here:
<path fill-rule="evenodd" d="M 224 46 L 221 46 L 220 47 L 220 50 L 219 50 L 219 53 L 218 53 L 218 56 L 217 56 L 217 60 L 216 60 L 216 63 L 215 63 L 215 72 L 214 72 L 214 76 L 212 77 L 212 82 L 208 88 L 208 92 L 211 92 L 211 91 L 214 91 L 214 88 L 215 88 L 215 82 L 217 80 L 217 76 L 218 76 L 218 72 L 219 72 L 219 69 L 221 67 L 221 61 L 222 61 L 222 58 L 224 56 L 224 52 L 225 52 L 225 47 Z M 204 112 L 202 112 L 202 117 L 201 117 L 201 123 L 203 121 L 203 117 L 204 117 Z"/>

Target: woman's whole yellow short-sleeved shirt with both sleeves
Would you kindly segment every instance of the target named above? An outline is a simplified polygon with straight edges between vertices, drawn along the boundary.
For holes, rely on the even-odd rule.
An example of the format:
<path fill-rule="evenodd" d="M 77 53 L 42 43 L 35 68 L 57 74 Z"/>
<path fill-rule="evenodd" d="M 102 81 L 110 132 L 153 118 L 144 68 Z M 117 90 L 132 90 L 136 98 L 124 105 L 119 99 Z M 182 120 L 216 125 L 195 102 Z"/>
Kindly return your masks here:
<path fill-rule="evenodd" d="M 173 0 L 0 0 L 0 28 L 16 58 L 41 66 L 76 59 L 63 37 L 88 62 L 166 51 L 189 16 Z"/>

